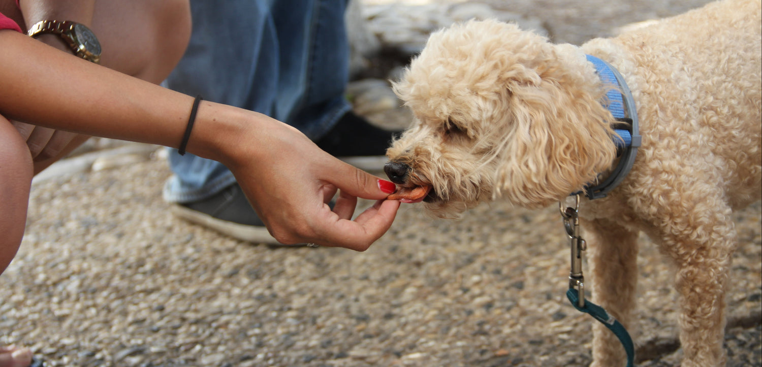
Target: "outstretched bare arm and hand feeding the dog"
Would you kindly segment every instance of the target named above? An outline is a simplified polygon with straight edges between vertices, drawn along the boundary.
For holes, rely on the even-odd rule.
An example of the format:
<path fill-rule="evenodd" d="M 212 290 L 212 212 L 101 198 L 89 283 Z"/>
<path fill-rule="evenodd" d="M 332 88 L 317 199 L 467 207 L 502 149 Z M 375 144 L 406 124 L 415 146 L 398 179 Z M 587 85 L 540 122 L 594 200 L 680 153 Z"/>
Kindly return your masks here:
<path fill-rule="evenodd" d="M 193 97 L 0 30 L 0 114 L 69 132 L 178 147 Z M 28 57 L 34 55 L 34 57 Z M 27 62 L 18 62 L 26 59 Z M 203 101 L 187 151 L 231 169 L 274 237 L 363 251 L 392 225 L 383 200 L 351 220 L 357 197 L 385 199 L 373 177 L 270 117 Z M 326 204 L 341 194 L 331 212 Z"/>

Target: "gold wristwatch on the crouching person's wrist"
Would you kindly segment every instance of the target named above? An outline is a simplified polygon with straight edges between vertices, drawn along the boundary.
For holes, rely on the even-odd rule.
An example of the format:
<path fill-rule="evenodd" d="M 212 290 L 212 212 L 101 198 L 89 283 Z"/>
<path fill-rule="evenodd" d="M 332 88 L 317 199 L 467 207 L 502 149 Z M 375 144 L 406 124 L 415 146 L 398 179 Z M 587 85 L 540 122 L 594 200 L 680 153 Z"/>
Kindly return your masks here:
<path fill-rule="evenodd" d="M 40 34 L 58 34 L 76 56 L 96 64 L 101 62 L 101 43 L 85 24 L 73 21 L 39 21 L 27 32 L 29 37 L 37 37 Z"/>

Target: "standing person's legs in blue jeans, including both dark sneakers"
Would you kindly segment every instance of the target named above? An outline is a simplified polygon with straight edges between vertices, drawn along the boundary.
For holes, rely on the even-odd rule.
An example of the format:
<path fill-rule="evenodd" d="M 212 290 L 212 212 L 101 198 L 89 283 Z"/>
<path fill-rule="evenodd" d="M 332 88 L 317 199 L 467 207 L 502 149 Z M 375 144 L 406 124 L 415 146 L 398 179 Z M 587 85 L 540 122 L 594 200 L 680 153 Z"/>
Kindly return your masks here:
<path fill-rule="evenodd" d="M 189 51 L 165 85 L 273 116 L 332 155 L 383 155 L 391 133 L 354 116 L 344 98 L 346 5 L 346 0 L 215 7 L 193 2 Z M 233 30 L 227 29 L 230 24 Z M 235 55 L 226 55 L 231 52 Z M 173 206 L 176 215 L 245 241 L 277 243 L 222 164 L 192 155 L 170 154 L 169 160 L 174 176 L 164 197 L 180 203 Z"/>

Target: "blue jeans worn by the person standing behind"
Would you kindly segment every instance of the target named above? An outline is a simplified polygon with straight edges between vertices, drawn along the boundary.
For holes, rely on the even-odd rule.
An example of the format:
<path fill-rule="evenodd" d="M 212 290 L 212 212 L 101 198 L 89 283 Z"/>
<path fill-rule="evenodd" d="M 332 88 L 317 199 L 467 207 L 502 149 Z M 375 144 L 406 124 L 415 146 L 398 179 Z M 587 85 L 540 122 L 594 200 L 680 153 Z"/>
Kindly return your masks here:
<path fill-rule="evenodd" d="M 192 0 L 191 42 L 164 85 L 264 113 L 320 139 L 350 109 L 346 6 L 347 0 Z M 169 202 L 204 199 L 235 182 L 223 164 L 174 149 L 169 164 L 174 175 L 163 193 Z"/>

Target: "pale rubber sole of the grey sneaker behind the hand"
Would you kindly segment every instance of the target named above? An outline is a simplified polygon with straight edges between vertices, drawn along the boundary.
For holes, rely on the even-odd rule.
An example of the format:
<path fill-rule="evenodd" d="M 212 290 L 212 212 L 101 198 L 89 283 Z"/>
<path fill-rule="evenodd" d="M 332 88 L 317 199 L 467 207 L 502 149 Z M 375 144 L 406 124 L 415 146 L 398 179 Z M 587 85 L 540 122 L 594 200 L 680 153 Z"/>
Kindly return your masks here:
<path fill-rule="evenodd" d="M 281 244 L 273 236 L 270 235 L 270 232 L 267 231 L 267 228 L 223 221 L 222 219 L 214 218 L 212 215 L 204 214 L 203 212 L 198 212 L 192 209 L 187 209 L 186 207 L 180 205 L 170 206 L 170 212 L 178 218 L 185 219 L 188 222 L 213 229 L 214 231 L 218 231 L 223 235 L 227 235 L 240 241 L 256 244 L 267 244 L 278 247 L 300 247 L 306 245 Z"/>

